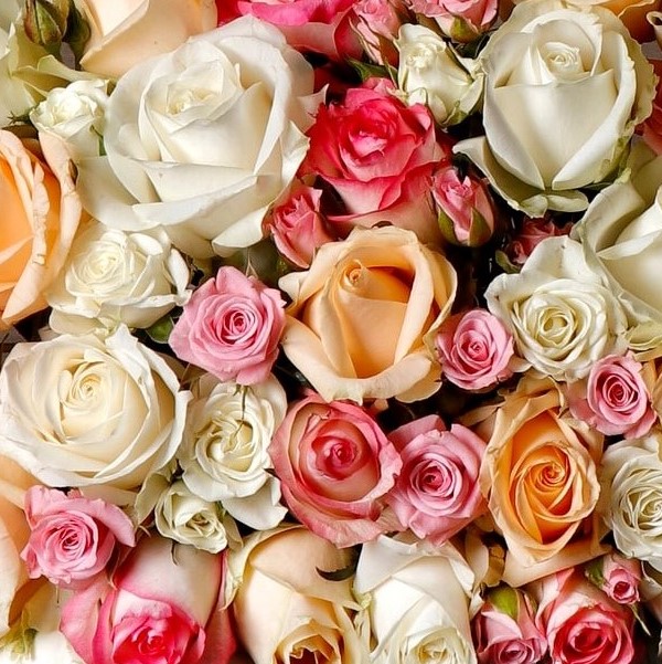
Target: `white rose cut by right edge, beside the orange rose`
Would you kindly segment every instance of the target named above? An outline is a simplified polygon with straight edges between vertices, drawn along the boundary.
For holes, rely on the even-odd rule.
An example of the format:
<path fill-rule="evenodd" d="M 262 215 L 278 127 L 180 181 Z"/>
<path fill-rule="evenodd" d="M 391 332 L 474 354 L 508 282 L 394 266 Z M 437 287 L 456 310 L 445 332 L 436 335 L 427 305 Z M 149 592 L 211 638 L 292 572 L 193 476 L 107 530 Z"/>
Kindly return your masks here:
<path fill-rule="evenodd" d="M 619 551 L 662 571 L 662 432 L 607 447 L 598 512 Z"/>

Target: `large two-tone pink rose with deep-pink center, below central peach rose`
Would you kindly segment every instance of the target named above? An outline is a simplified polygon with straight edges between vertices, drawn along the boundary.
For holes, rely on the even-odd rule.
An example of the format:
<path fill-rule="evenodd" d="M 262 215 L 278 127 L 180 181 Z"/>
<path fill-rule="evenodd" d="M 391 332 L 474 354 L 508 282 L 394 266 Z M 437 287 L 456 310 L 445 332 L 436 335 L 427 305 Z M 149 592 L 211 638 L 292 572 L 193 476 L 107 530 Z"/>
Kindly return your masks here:
<path fill-rule="evenodd" d="M 349 547 L 395 529 L 384 497 L 402 461 L 359 405 L 311 393 L 290 407 L 269 455 L 288 507 L 316 535 Z"/>

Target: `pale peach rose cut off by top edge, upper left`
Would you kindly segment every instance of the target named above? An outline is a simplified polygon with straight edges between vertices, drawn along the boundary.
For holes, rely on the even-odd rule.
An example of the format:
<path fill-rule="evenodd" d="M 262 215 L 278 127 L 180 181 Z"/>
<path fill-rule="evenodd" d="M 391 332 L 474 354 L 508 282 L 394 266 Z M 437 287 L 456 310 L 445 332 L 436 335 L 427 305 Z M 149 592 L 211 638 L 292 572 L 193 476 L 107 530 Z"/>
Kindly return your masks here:
<path fill-rule="evenodd" d="M 213 0 L 78 0 L 78 4 L 90 30 L 81 66 L 111 78 L 216 27 Z"/>

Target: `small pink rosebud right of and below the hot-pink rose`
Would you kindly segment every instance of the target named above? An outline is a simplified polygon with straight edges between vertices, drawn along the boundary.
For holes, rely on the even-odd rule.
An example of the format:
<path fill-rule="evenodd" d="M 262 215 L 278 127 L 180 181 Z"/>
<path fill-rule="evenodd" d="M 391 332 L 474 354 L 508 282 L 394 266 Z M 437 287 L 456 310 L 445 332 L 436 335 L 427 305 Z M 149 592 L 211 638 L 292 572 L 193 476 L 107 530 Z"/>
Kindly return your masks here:
<path fill-rule="evenodd" d="M 463 246 L 480 246 L 494 232 L 494 208 L 484 180 L 465 176 L 452 166 L 433 177 L 433 198 L 446 240 Z"/>

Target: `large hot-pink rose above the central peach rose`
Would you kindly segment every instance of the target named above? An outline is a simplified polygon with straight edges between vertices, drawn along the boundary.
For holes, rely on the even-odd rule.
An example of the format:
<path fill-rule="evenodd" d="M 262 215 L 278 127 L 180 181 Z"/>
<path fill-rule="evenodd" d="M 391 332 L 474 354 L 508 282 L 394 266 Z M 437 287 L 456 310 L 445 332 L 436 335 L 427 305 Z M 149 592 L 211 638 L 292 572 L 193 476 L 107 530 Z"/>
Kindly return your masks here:
<path fill-rule="evenodd" d="M 343 223 L 387 219 L 424 242 L 438 240 L 429 178 L 446 150 L 428 108 L 406 106 L 393 92 L 389 82 L 371 80 L 348 89 L 342 102 L 320 106 L 300 172 L 334 188 L 349 212 L 339 218 Z"/>

